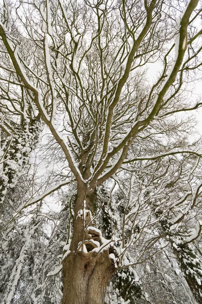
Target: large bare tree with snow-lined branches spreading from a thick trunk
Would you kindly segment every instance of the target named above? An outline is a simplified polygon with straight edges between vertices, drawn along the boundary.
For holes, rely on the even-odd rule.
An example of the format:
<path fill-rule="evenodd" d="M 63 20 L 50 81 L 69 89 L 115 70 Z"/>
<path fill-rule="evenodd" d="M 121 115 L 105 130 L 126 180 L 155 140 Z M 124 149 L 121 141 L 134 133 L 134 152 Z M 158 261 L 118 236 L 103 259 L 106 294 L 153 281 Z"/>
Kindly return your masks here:
<path fill-rule="evenodd" d="M 10 140 L 11 115 L 14 127 L 19 121 L 21 126 L 40 121 L 51 132 L 60 161 L 69 167 L 76 182 L 63 251 L 63 304 L 104 303 L 112 275 L 142 263 L 149 250 L 155 255 L 162 249 L 158 244 L 169 235 L 168 229 L 179 222 L 183 227 L 183 220 L 195 212 L 201 184 L 190 166 L 199 171 L 201 154 L 196 144 L 190 147 L 187 142 L 190 118 L 180 119 L 178 114 L 201 105 L 191 98 L 187 101 L 183 94 L 186 84 L 193 82 L 193 77 L 197 80 L 200 72 L 200 14 L 197 0 L 176 6 L 163 0 L 4 1 L 0 24 L 3 138 L 7 135 Z M 152 62 L 160 63 L 162 71 L 151 85 L 145 73 Z M 37 134 L 35 129 L 32 134 Z M 27 127 L 23 130 L 28 134 Z M 199 141 L 197 144 L 200 146 Z M 185 160 L 177 163 L 176 155 Z M 6 159 L 4 154 L 4 164 Z M 110 208 L 114 199 L 105 206 L 98 199 L 98 188 L 111 179 L 119 184 L 127 170 L 137 172 L 138 166 L 140 173 L 145 167 L 151 174 L 154 190 L 157 180 L 164 183 L 164 189 L 176 185 L 179 201 L 173 205 L 174 197 L 168 192 L 169 200 L 155 206 L 162 200 L 156 191 L 149 205 L 149 175 L 140 174 L 135 181 L 132 174 L 126 189 L 128 199 L 118 200 L 120 209 L 114 207 L 117 211 L 113 215 Z M 150 167 L 155 169 L 153 173 Z M 194 178 L 185 180 L 188 171 Z M 62 175 L 62 180 L 43 194 L 23 201 L 13 219 L 69 182 L 69 176 Z M 3 180 L 3 194 L 5 187 Z M 105 219 L 104 213 L 110 216 L 111 238 L 102 236 L 102 224 L 98 229 L 102 212 Z M 171 212 L 179 217 L 174 222 Z M 143 219 L 139 213 L 144 214 Z M 162 214 L 167 217 L 163 219 Z M 151 225 L 153 232 L 161 234 L 148 238 L 146 229 Z M 119 237 L 116 227 L 121 227 Z M 178 235 L 169 237 L 169 244 L 176 243 Z M 132 248 L 133 257 L 129 254 Z M 179 263 L 186 272 L 181 259 L 182 255 Z M 194 275 L 190 276 L 194 280 Z M 197 277 L 194 293 L 198 303 L 199 280 Z"/>

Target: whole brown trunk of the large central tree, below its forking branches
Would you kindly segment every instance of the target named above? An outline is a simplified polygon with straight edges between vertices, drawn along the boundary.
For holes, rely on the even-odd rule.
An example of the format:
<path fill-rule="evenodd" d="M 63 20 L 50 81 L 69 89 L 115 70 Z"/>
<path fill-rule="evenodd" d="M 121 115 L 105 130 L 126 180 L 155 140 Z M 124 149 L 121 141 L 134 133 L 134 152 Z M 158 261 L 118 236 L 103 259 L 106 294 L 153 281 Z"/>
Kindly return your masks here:
<path fill-rule="evenodd" d="M 102 238 L 92 228 L 89 205 L 86 189 L 78 189 L 71 252 L 63 260 L 62 304 L 104 304 L 106 288 L 114 273 L 109 250 L 92 251 L 99 247 L 98 243 L 102 244 Z M 86 230 L 87 226 L 91 229 Z"/>

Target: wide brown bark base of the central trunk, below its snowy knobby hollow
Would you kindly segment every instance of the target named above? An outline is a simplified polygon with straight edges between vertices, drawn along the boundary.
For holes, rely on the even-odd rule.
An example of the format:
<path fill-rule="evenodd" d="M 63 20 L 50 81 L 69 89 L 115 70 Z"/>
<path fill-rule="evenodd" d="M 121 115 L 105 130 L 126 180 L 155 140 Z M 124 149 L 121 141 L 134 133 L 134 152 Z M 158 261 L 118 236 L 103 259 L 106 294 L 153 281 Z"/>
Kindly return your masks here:
<path fill-rule="evenodd" d="M 107 251 L 71 254 L 63 262 L 62 304 L 103 304 L 113 272 Z"/>

